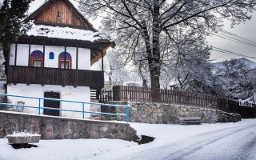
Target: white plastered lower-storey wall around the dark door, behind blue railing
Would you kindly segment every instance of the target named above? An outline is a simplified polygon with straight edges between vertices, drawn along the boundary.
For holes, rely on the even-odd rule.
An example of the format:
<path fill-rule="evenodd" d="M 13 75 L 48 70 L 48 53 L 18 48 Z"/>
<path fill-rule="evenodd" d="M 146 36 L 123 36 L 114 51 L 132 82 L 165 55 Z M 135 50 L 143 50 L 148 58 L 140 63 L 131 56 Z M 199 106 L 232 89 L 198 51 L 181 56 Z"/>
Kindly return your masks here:
<path fill-rule="evenodd" d="M 27 86 L 26 84 L 8 84 L 7 85 L 8 94 L 16 94 L 23 96 L 31 96 L 43 98 L 45 92 L 58 92 L 60 93 L 60 98 L 70 101 L 79 101 L 79 102 L 90 102 L 90 87 L 88 86 L 78 86 L 74 88 L 74 86 L 57 86 L 57 85 L 33 85 Z M 36 106 L 38 107 L 38 99 L 30 99 L 30 98 L 14 98 L 8 97 L 12 104 L 17 104 L 17 102 L 22 101 L 25 102 L 25 106 Z M 43 106 L 43 100 L 41 101 L 41 106 Z M 74 102 L 61 102 L 61 109 L 65 110 L 82 110 L 81 103 Z M 90 110 L 90 105 L 85 105 L 85 110 Z M 38 109 L 25 108 L 23 110 L 26 113 L 34 113 L 38 114 Z M 41 114 L 43 114 L 43 110 L 41 110 Z M 68 117 L 68 118 L 82 118 L 82 113 L 68 112 L 68 111 L 60 111 L 60 116 Z M 86 118 L 90 118 L 90 114 L 85 114 Z"/>

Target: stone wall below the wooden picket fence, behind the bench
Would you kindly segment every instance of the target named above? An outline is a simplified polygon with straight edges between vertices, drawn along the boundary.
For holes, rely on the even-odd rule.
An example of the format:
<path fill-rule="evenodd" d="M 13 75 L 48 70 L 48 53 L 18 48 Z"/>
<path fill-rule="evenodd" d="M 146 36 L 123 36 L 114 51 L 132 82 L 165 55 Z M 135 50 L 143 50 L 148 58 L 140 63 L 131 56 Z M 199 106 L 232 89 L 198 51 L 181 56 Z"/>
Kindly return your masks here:
<path fill-rule="evenodd" d="M 124 104 L 123 102 L 111 102 Z M 211 110 L 199 107 L 181 106 L 174 104 L 160 104 L 150 102 L 131 102 L 130 122 L 143 123 L 174 123 L 178 124 L 181 117 L 200 117 L 204 123 L 238 122 L 240 114 L 230 114 L 221 110 Z M 117 113 L 126 114 L 125 108 L 117 108 Z M 117 120 L 125 120 L 118 117 Z"/>

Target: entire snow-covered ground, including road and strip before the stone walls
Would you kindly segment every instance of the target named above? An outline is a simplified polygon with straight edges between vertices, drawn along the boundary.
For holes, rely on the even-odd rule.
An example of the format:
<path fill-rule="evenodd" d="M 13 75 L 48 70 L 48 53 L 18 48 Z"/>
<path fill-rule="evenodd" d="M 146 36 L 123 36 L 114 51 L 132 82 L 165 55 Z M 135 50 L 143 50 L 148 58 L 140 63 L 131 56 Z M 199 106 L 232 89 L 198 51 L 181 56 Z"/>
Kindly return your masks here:
<path fill-rule="evenodd" d="M 154 142 L 111 139 L 41 140 L 38 147 L 14 150 L 0 139 L 0 159 L 256 159 L 256 119 L 200 126 L 131 123 Z"/>

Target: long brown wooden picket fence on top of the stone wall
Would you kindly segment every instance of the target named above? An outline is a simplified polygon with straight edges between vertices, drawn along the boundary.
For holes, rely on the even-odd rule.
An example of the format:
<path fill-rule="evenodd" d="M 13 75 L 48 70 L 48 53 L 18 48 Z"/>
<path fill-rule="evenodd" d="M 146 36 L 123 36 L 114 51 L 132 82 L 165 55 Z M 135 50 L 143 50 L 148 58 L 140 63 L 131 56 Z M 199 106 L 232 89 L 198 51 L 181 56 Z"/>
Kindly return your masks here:
<path fill-rule="evenodd" d="M 238 113 L 238 102 L 227 98 L 220 98 L 215 95 L 138 86 L 114 86 L 113 91 L 114 101 L 160 102 Z"/>

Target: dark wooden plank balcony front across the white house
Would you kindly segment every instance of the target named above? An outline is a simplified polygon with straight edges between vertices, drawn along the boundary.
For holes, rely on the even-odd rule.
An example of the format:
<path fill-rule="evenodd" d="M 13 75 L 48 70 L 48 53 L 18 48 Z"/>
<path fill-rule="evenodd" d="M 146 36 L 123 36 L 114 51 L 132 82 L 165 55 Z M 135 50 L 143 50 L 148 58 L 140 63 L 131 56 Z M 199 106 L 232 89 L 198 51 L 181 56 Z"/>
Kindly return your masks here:
<path fill-rule="evenodd" d="M 8 83 L 104 87 L 104 73 L 94 70 L 64 70 L 28 66 L 8 66 Z"/>

